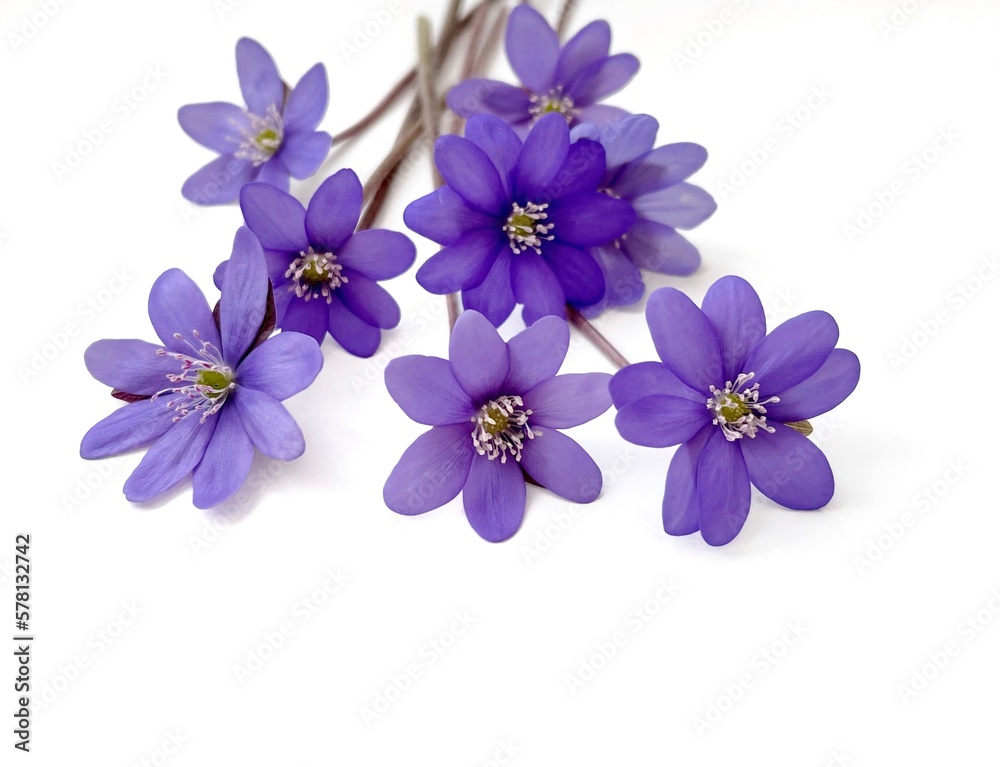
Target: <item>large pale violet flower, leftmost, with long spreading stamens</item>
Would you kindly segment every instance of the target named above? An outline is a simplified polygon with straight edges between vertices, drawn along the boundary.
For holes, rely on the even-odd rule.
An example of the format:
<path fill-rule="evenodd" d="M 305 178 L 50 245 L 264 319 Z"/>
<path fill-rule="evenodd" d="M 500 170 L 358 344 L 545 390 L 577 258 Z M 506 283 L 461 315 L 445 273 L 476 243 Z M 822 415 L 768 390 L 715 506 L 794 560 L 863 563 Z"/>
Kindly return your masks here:
<path fill-rule="evenodd" d="M 91 375 L 130 404 L 87 432 L 80 455 L 151 445 L 125 482 L 130 501 L 148 501 L 193 473 L 194 505 L 209 508 L 243 484 L 255 447 L 282 461 L 302 454 L 302 432 L 281 400 L 312 383 L 323 355 L 301 333 L 267 338 L 268 292 L 263 251 L 243 228 L 217 317 L 191 278 L 171 269 L 149 295 L 162 346 L 104 340 L 87 349 Z"/>

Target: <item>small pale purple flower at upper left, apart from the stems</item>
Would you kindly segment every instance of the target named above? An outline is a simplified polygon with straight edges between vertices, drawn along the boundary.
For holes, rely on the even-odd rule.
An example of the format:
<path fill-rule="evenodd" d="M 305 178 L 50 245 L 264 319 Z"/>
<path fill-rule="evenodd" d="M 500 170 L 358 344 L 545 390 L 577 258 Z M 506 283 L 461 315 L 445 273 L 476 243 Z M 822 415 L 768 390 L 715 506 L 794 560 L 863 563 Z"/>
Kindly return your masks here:
<path fill-rule="evenodd" d="M 219 152 L 192 175 L 181 194 L 200 205 L 232 202 L 251 181 L 288 189 L 289 175 L 315 173 L 330 151 L 330 135 L 316 126 L 326 113 L 326 69 L 317 64 L 286 92 L 274 59 L 250 38 L 236 43 L 236 70 L 247 102 L 189 104 L 177 112 L 184 132 Z"/>

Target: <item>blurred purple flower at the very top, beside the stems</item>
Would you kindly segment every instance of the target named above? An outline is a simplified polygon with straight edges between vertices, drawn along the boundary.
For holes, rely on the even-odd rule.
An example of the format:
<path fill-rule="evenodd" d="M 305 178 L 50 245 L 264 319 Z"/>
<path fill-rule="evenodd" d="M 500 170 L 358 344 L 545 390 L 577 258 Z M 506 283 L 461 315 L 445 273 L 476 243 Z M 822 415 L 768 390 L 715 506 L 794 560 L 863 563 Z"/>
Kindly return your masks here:
<path fill-rule="evenodd" d="M 521 136 L 549 113 L 562 115 L 570 125 L 601 125 L 628 114 L 597 103 L 624 88 L 639 69 L 639 60 L 629 53 L 608 55 L 611 28 L 606 21 L 588 24 L 560 48 L 555 30 L 523 4 L 510 14 L 506 40 L 507 58 L 523 87 L 465 80 L 448 92 L 453 112 L 496 115 Z"/>

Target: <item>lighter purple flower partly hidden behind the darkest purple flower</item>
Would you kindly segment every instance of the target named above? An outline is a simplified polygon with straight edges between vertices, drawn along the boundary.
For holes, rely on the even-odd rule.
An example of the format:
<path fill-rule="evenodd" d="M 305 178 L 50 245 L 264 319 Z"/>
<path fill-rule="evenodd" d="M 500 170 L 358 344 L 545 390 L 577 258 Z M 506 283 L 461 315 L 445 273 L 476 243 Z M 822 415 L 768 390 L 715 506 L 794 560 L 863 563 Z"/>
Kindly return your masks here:
<path fill-rule="evenodd" d="M 627 200 L 635 224 L 613 242 L 591 248 L 604 272 L 605 292 L 586 308 L 588 316 L 609 306 L 625 306 L 642 298 L 639 269 L 660 274 L 691 274 L 698 268 L 698 249 L 677 233 L 693 229 L 716 209 L 712 195 L 686 182 L 708 153 L 698 144 L 666 144 L 653 148 L 659 124 L 649 115 L 631 115 L 598 128 L 580 125 L 573 137 L 599 141 L 607 156 L 601 189 Z"/>

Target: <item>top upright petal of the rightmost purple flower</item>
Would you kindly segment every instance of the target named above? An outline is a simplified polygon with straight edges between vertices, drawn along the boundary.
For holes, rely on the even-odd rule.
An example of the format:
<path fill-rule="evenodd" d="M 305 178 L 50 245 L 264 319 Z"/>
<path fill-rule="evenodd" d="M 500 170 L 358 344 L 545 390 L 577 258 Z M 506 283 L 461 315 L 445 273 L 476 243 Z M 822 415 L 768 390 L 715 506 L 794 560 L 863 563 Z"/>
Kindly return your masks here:
<path fill-rule="evenodd" d="M 701 310 L 722 342 L 726 380 L 735 381 L 748 372 L 743 369 L 747 356 L 767 330 L 760 297 L 742 277 L 723 277 L 708 289 Z"/>

